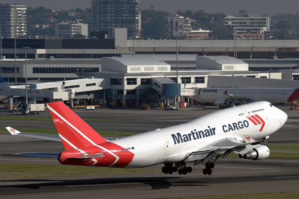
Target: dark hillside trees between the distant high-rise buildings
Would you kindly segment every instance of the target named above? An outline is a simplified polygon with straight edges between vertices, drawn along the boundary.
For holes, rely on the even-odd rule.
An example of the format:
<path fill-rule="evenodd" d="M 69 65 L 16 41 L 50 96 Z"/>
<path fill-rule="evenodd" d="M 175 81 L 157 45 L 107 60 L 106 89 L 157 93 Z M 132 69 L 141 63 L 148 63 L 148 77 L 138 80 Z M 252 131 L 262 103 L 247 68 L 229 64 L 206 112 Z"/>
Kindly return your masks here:
<path fill-rule="evenodd" d="M 75 21 L 75 15 L 70 15 L 69 12 L 82 13 L 81 15 L 91 16 L 91 8 L 82 10 L 80 8 L 74 10 L 59 10 L 54 11 L 45 7 L 28 7 L 27 8 L 27 34 L 30 36 L 53 36 L 55 35 L 55 23 L 63 21 Z M 150 39 L 165 39 L 164 36 L 164 17 L 169 15 L 166 11 L 156 11 L 151 6 L 151 9 L 141 10 L 142 13 L 142 34 L 143 38 Z M 239 16 L 245 15 L 245 10 L 239 11 Z M 213 19 L 219 17 L 221 13 L 205 13 L 202 9 L 198 11 L 177 10 L 176 14 L 190 17 L 195 20 L 191 22 L 192 28 L 212 30 L 209 37 L 212 39 L 233 39 L 233 36 L 225 27 L 215 27 L 212 23 Z M 81 16 L 80 15 L 80 16 Z M 264 15 L 263 15 L 264 16 Z M 48 20 L 53 17 L 55 20 Z M 81 16 L 82 17 L 82 16 Z M 83 18 L 84 23 L 91 25 L 91 17 Z M 42 26 L 41 24 L 47 24 Z M 38 26 L 38 27 L 37 27 Z M 90 28 L 89 28 L 90 29 Z M 272 39 L 299 39 L 299 13 L 296 14 L 274 14 L 271 16 Z M 169 38 L 169 37 L 168 37 Z M 171 39 L 171 38 L 169 38 Z M 174 38 L 173 38 L 174 39 Z"/>

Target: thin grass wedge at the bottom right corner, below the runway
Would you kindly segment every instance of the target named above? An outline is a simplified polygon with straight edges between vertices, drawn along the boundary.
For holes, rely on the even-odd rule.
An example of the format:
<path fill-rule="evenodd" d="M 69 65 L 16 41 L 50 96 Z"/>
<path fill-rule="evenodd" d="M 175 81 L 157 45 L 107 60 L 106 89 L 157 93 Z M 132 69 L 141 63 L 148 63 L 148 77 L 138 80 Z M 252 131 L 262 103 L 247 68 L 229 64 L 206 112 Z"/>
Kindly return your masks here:
<path fill-rule="evenodd" d="M 217 196 L 197 196 L 197 197 L 169 197 L 158 199 L 299 199 L 299 192 L 279 192 L 279 193 L 256 193 L 256 194 L 230 194 Z"/>

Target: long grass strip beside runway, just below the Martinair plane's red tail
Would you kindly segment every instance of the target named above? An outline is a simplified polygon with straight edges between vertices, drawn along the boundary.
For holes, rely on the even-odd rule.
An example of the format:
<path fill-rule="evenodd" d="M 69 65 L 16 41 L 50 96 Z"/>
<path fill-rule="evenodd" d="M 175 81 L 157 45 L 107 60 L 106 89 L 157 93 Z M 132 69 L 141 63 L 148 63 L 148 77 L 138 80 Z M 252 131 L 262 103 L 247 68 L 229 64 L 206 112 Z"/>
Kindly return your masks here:
<path fill-rule="evenodd" d="M 158 169 L 124 169 L 71 165 L 0 164 L 0 179 L 91 176 L 110 174 L 157 173 Z"/>

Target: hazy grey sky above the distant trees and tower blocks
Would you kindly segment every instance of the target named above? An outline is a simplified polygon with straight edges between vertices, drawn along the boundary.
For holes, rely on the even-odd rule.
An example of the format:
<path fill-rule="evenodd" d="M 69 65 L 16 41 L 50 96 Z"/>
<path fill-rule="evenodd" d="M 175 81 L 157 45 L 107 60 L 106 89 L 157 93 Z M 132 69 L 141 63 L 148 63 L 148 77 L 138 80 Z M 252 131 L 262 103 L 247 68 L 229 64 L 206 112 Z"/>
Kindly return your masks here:
<path fill-rule="evenodd" d="M 16 3 L 26 7 L 44 6 L 51 9 L 85 9 L 91 7 L 91 0 L 0 0 L 0 3 Z M 248 13 L 267 14 L 299 12 L 299 0 L 140 0 L 140 8 L 176 12 L 190 9 L 198 11 L 203 9 L 205 13 L 225 12 L 238 14 L 243 9 Z"/>

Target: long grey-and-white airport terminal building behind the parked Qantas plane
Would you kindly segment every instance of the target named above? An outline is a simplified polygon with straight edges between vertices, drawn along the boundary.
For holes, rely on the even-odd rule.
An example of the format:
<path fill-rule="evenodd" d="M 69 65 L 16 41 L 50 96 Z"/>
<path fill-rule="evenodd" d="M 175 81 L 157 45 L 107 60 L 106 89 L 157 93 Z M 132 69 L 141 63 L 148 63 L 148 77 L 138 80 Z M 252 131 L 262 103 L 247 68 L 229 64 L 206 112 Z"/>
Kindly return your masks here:
<path fill-rule="evenodd" d="M 125 32 L 115 28 L 115 34 Z M 172 91 L 176 82 L 196 95 L 196 88 L 248 87 L 259 81 L 267 81 L 259 87 L 294 88 L 299 80 L 299 40 L 238 40 L 236 46 L 233 40 L 178 40 L 177 62 L 175 40 L 128 40 L 125 35 L 115 39 L 16 39 L 16 44 L 15 60 L 13 39 L 2 39 L 1 77 L 5 81 L 13 83 L 16 76 L 17 84 L 24 84 L 25 69 L 30 85 L 70 84 L 68 88 L 43 88 L 47 90 L 78 91 L 78 78 L 108 79 L 109 86 L 89 89 L 88 93 L 80 90 L 74 99 L 99 99 L 110 104 L 171 104 L 175 92 L 167 90 Z M 26 60 L 24 47 L 30 47 Z M 84 88 L 90 84 L 95 83 L 88 81 Z"/>

